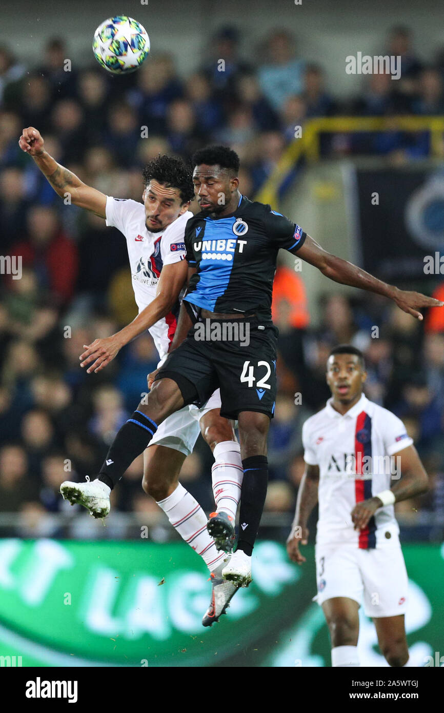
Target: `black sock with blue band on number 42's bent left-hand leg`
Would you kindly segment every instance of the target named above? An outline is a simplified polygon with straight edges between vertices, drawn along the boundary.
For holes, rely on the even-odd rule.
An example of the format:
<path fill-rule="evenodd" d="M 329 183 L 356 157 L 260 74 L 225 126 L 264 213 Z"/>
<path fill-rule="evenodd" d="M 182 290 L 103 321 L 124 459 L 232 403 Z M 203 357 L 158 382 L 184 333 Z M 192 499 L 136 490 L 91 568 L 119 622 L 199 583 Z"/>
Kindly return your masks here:
<path fill-rule="evenodd" d="M 157 424 L 142 411 L 134 411 L 133 416 L 123 424 L 111 443 L 98 474 L 99 481 L 113 490 L 134 459 L 145 451 L 157 430 Z"/>

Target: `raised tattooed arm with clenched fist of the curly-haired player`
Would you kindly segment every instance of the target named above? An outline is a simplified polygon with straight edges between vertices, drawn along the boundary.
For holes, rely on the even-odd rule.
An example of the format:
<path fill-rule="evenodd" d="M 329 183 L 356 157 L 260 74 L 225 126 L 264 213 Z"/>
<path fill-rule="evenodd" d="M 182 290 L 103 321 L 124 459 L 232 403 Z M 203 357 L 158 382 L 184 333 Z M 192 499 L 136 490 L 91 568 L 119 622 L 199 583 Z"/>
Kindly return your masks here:
<path fill-rule="evenodd" d="M 68 194 L 71 196 L 71 203 L 74 203 L 74 205 L 91 210 L 95 215 L 105 218 L 105 194 L 92 188 L 91 185 L 86 185 L 74 173 L 57 163 L 52 156 L 46 153 L 43 143 L 40 132 L 33 126 L 24 129 L 19 139 L 21 150 L 32 156 L 41 173 L 46 176 L 57 195 L 60 195 L 61 198 L 66 198 Z"/>

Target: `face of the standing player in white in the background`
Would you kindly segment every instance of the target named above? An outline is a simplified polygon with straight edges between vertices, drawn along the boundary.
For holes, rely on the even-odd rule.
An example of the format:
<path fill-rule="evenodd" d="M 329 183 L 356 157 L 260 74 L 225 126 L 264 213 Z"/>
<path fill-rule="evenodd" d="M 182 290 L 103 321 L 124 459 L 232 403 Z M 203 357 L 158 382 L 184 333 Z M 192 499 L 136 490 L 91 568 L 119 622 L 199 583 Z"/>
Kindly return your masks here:
<path fill-rule="evenodd" d="M 367 373 L 356 354 L 331 354 L 327 361 L 327 384 L 336 403 L 353 406 L 361 398 Z"/>

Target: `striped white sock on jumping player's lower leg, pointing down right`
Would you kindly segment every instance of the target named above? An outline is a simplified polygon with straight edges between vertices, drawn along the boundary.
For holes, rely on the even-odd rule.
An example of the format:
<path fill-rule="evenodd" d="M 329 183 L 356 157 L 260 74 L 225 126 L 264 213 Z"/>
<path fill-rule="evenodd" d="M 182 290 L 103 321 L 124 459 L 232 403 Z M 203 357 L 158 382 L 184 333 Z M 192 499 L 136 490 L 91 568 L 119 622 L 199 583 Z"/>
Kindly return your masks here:
<path fill-rule="evenodd" d="M 218 553 L 207 530 L 207 515 L 199 503 L 183 486 L 179 485 L 170 496 L 158 502 L 173 528 L 198 555 L 212 572 L 219 565 L 225 553 Z"/>

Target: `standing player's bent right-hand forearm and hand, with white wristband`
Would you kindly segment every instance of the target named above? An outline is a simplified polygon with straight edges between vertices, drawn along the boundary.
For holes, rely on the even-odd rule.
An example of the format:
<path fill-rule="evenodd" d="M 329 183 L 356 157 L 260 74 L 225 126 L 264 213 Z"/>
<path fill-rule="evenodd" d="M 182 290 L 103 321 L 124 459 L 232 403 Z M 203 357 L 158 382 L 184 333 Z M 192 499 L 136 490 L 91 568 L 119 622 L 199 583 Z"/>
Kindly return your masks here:
<path fill-rule="evenodd" d="M 393 462 L 398 464 L 397 469 L 399 468 L 401 471 L 401 478 L 391 488 L 395 503 L 400 503 L 401 500 L 408 500 L 408 498 L 413 498 L 415 495 L 422 495 L 428 490 L 428 476 L 415 446 L 407 446 L 402 451 L 393 453 L 391 457 Z M 355 530 L 365 528 L 368 520 L 376 513 L 378 508 L 383 507 L 383 504 L 383 501 L 378 496 L 373 496 L 373 498 L 357 503 L 351 511 L 351 519 Z"/>

